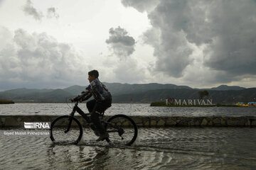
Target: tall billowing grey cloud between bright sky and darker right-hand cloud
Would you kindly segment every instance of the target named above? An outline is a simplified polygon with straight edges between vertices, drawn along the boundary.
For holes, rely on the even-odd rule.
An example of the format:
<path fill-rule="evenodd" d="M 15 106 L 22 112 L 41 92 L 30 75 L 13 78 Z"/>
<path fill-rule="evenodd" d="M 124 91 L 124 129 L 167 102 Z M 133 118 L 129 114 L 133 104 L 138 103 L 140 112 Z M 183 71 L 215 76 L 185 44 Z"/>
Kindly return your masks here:
<path fill-rule="evenodd" d="M 193 51 L 186 40 L 186 33 L 176 28 L 180 23 L 174 23 L 185 11 L 186 8 L 179 1 L 161 2 L 149 14 L 153 27 L 144 33 L 145 42 L 154 47 L 156 71 L 165 72 L 171 77 L 181 77 L 183 69 L 192 62 L 190 55 Z"/>

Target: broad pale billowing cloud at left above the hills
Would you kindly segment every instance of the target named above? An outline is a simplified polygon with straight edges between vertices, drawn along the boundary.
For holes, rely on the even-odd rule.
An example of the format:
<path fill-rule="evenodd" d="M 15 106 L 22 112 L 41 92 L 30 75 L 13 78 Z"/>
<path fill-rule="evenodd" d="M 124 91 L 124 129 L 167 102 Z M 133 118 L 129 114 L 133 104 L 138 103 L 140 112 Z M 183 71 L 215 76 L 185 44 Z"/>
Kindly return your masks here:
<path fill-rule="evenodd" d="M 85 79 L 87 65 L 72 45 L 22 29 L 9 39 L 0 47 L 0 89 L 69 86 Z"/>

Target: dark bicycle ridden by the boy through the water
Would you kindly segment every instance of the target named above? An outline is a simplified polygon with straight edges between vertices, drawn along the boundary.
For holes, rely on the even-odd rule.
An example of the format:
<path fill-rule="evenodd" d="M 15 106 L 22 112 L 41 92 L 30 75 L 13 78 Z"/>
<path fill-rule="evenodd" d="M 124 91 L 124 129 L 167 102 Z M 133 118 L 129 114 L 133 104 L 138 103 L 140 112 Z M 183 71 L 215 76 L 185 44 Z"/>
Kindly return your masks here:
<path fill-rule="evenodd" d="M 72 143 L 78 144 L 82 138 L 82 125 L 80 121 L 74 117 L 75 112 L 82 115 L 85 119 L 88 128 L 92 129 L 95 135 L 99 135 L 92 121 L 90 120 L 91 113 L 84 113 L 78 107 L 78 101 L 75 102 L 73 111 L 70 115 L 62 115 L 50 125 L 50 140 L 55 143 Z M 138 135 L 138 128 L 132 118 L 127 115 L 113 115 L 107 121 L 103 120 L 104 112 L 100 115 L 100 122 L 110 137 L 106 140 L 114 144 L 132 145 Z"/>

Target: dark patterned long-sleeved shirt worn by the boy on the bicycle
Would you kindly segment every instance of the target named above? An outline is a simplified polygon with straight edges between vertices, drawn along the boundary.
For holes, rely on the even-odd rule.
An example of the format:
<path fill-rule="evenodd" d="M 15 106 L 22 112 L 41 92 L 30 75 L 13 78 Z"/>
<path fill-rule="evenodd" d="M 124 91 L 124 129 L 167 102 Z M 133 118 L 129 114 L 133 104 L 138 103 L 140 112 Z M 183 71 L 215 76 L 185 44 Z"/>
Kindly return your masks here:
<path fill-rule="evenodd" d="M 105 101 L 107 99 L 112 98 L 110 91 L 106 88 L 99 79 L 94 79 L 90 82 L 89 86 L 82 91 L 82 94 L 78 96 L 78 98 L 82 98 L 82 101 L 86 101 L 93 95 L 96 101 Z"/>

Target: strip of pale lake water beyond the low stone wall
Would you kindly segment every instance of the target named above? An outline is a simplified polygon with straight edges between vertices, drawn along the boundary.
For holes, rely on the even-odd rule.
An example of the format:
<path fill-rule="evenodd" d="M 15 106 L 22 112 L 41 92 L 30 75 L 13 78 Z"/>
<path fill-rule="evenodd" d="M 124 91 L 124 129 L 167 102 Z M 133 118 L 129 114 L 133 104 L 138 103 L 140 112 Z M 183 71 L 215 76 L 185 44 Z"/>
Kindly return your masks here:
<path fill-rule="evenodd" d="M 71 103 L 69 104 L 71 106 Z M 80 108 L 87 112 L 86 104 Z M 66 115 L 71 113 L 66 103 L 15 103 L 0 105 L 0 115 Z M 107 115 L 256 115 L 255 108 L 234 107 L 150 107 L 149 103 L 113 103 Z"/>

